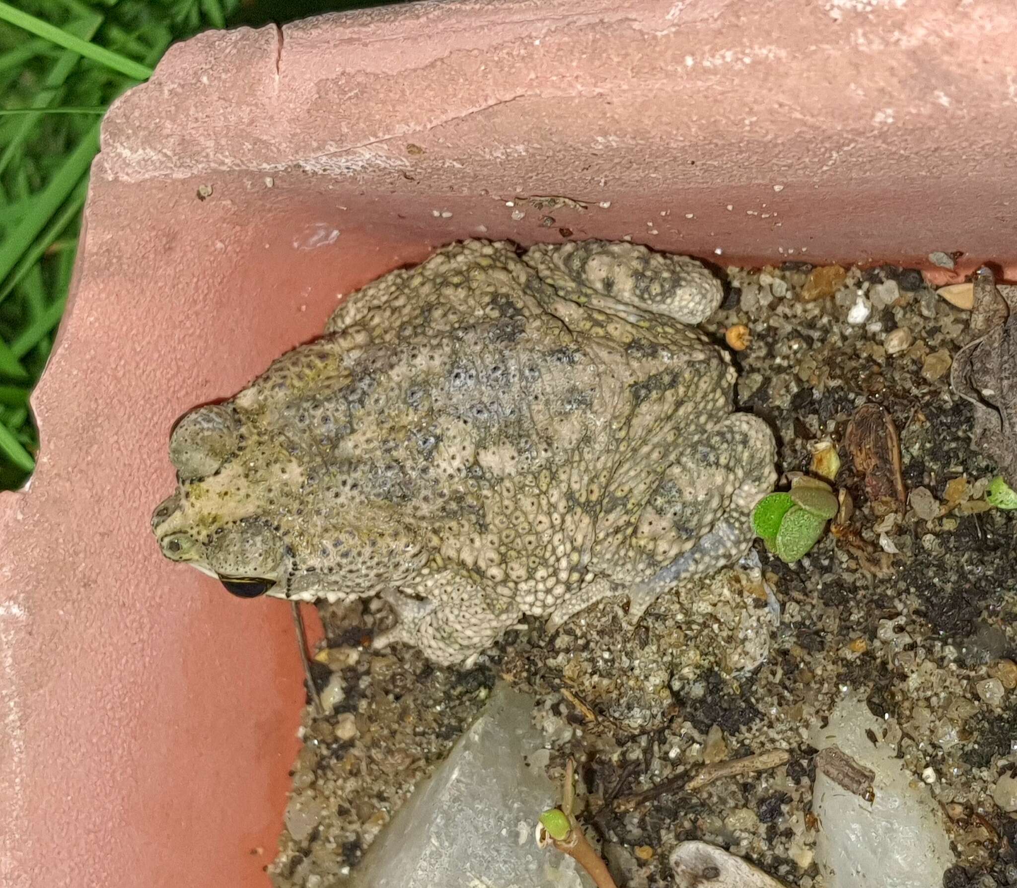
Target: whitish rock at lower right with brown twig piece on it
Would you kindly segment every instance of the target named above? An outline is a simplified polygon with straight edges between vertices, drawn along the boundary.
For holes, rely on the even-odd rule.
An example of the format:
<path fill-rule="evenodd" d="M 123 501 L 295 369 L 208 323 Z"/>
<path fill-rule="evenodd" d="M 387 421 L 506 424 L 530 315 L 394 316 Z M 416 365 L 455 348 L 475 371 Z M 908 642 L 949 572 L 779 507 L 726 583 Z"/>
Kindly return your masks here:
<path fill-rule="evenodd" d="M 816 861 L 826 888 L 931 888 L 943 884 L 943 873 L 955 863 L 929 787 L 894 758 L 892 744 L 874 745 L 865 736 L 869 730 L 882 737 L 885 727 L 864 700 L 848 697 L 826 727 L 817 725 L 810 734 L 817 749 L 835 746 L 875 773 L 868 802 L 817 768 Z"/>

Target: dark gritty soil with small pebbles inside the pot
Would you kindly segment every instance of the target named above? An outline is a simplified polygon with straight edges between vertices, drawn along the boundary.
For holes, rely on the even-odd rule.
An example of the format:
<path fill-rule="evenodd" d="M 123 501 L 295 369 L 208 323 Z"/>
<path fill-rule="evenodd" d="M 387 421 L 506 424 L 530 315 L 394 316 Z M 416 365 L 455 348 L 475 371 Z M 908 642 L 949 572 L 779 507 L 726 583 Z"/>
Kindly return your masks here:
<path fill-rule="evenodd" d="M 812 271 L 728 269 L 724 310 L 705 329 L 726 347 L 725 330 L 747 326 L 732 353 L 738 407 L 770 423 L 782 472 L 810 472 L 832 442 L 850 518 L 792 565 L 757 541 L 762 571 L 662 596 L 634 632 L 624 599 L 606 600 L 553 637 L 535 621 L 510 633 L 465 673 L 402 646 L 370 651 L 392 620 L 379 604 L 322 605 L 316 680 L 342 699 L 324 717 L 305 710 L 268 868 L 278 888 L 344 884 L 498 677 L 538 695 L 548 778 L 575 759 L 580 820 L 622 888 L 673 884 L 667 859 L 692 838 L 820 888 L 807 735 L 849 690 L 884 720 L 874 743 L 892 744 L 943 806 L 957 854 L 944 885 L 1017 885 L 1017 814 L 993 800 L 1017 768 L 1017 512 L 983 501 L 994 466 L 971 449 L 970 406 L 950 389 L 968 313 L 893 267 L 848 269 L 833 295 L 805 301 Z M 872 499 L 847 452 L 866 403 L 898 432 L 906 507 Z M 682 788 L 705 761 L 775 749 L 786 765 Z"/>

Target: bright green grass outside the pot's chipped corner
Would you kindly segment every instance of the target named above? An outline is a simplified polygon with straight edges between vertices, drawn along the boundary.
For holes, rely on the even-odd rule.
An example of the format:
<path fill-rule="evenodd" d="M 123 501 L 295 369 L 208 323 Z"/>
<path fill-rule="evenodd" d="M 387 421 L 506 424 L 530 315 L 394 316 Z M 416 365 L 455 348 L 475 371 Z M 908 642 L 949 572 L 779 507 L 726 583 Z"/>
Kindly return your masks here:
<path fill-rule="evenodd" d="M 35 467 L 28 395 L 67 299 L 102 115 L 171 43 L 224 27 L 238 6 L 0 2 L 0 489 L 20 487 Z"/>

